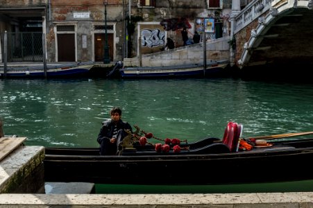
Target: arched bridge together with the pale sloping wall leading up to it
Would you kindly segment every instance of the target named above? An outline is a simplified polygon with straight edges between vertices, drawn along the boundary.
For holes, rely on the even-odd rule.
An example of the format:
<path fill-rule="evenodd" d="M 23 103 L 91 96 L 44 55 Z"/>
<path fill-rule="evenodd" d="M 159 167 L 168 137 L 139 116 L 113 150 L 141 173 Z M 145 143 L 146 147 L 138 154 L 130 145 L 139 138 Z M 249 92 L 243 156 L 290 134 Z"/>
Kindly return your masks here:
<path fill-rule="evenodd" d="M 300 69 L 310 72 L 307 69 L 313 66 L 312 9 L 313 0 L 253 0 L 242 10 L 240 0 L 232 0 L 230 36 L 207 42 L 206 58 L 229 60 L 230 66 L 242 69 L 239 71 L 265 76 L 269 75 L 264 72 L 267 70 L 279 76 L 282 71 L 293 76 L 293 69 L 297 73 Z M 202 43 L 124 59 L 124 66 L 201 62 Z"/>

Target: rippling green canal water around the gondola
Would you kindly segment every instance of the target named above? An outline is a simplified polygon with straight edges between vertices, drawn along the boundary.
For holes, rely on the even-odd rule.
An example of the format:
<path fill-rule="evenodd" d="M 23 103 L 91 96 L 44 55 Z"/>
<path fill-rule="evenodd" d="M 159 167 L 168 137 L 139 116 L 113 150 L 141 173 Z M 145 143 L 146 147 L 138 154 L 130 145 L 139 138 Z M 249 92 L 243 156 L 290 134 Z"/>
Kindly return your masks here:
<path fill-rule="evenodd" d="M 0 119 L 5 135 L 27 137 L 26 145 L 46 147 L 98 147 L 101 122 L 110 117 L 113 106 L 121 107 L 124 121 L 161 139 L 222 138 L 229 121 L 242 123 L 242 137 L 312 131 L 312 100 L 313 84 L 275 80 L 0 80 Z M 247 167 L 247 174 L 253 170 Z M 269 174 L 275 173 L 269 170 Z M 297 184 L 298 189 L 313 191 L 312 181 Z M 236 186 L 227 187 L 97 185 L 99 192 L 110 193 L 236 192 Z M 257 187 L 251 186 L 249 192 L 260 191 Z M 296 184 L 265 184 L 264 189 L 269 187 L 294 191 L 290 188 Z"/>

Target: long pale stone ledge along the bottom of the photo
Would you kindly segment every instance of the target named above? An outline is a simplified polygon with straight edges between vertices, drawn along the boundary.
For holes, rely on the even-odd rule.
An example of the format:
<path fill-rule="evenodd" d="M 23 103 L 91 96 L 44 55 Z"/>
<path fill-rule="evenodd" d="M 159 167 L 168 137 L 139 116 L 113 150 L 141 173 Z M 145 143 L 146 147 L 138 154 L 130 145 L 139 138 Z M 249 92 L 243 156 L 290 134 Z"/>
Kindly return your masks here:
<path fill-rule="evenodd" d="M 0 207 L 313 207 L 313 192 L 210 194 L 1 194 Z"/>

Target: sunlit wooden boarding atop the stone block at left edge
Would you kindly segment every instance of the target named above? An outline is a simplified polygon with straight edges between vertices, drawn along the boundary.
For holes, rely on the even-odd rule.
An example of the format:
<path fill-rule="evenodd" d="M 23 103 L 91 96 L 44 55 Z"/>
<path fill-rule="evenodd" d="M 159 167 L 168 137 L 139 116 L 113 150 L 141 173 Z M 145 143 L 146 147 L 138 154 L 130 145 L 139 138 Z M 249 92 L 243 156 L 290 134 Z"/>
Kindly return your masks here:
<path fill-rule="evenodd" d="M 18 148 L 26 137 L 1 137 L 0 138 L 0 161 L 10 154 L 12 150 Z"/>

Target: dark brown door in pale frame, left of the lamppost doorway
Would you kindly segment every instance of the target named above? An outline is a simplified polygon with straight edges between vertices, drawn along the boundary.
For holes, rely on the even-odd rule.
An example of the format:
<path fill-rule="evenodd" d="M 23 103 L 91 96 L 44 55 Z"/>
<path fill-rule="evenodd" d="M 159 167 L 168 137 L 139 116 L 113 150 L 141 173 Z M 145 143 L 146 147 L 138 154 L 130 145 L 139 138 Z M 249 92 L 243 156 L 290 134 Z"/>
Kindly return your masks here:
<path fill-rule="evenodd" d="M 58 34 L 58 61 L 75 62 L 75 34 Z"/>

